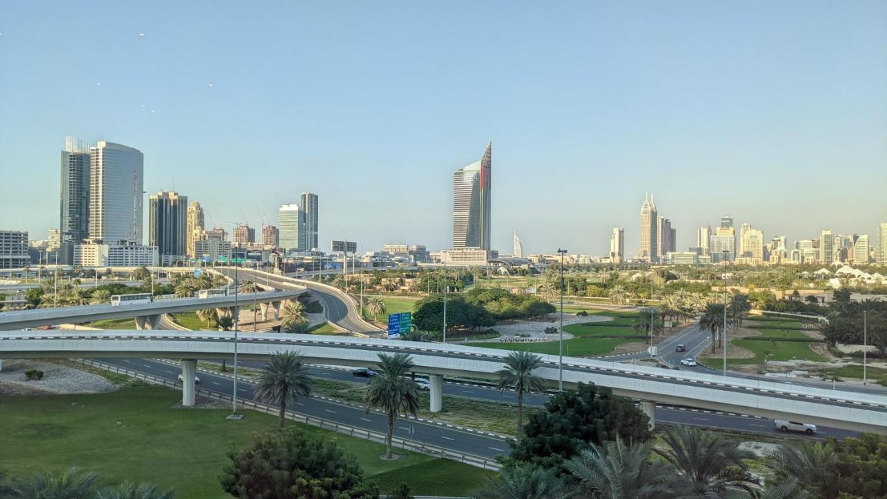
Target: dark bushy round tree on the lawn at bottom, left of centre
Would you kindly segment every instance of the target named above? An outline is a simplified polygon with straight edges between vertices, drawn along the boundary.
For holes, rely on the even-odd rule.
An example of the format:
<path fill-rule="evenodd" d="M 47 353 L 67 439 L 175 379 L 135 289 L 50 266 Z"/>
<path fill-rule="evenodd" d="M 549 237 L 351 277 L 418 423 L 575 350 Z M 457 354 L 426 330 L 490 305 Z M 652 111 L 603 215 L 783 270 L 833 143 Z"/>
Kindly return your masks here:
<path fill-rule="evenodd" d="M 240 499 L 377 499 L 353 455 L 334 439 L 290 429 L 256 435 L 252 445 L 228 453 L 220 481 Z"/>

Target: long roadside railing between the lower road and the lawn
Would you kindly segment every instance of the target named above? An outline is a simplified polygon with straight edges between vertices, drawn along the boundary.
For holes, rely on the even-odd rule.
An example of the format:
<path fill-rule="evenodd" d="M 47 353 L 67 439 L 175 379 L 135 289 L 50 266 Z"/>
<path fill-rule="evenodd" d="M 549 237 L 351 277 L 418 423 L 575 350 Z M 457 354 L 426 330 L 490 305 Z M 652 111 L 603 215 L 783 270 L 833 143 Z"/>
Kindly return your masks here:
<path fill-rule="evenodd" d="M 78 362 L 93 367 L 100 368 L 106 371 L 110 371 L 116 374 L 122 374 L 125 376 L 130 376 L 136 379 L 140 379 L 150 384 L 159 384 L 161 386 L 167 386 L 169 388 L 181 389 L 182 384 L 177 383 L 175 381 L 165 379 L 162 377 L 152 376 L 144 373 L 139 373 L 137 371 L 133 371 L 127 368 L 121 368 L 119 366 L 112 366 L 110 364 L 106 364 L 104 362 L 98 362 L 97 360 L 91 359 L 77 359 Z M 197 394 L 203 397 L 206 397 L 211 400 L 220 400 L 224 402 L 231 403 L 232 396 L 227 393 L 222 392 L 214 392 L 212 390 L 207 390 L 205 388 L 197 388 Z M 270 406 L 267 404 L 263 404 L 260 402 L 256 402 L 255 400 L 245 400 L 238 399 L 238 405 L 241 408 L 248 408 L 255 410 L 257 412 L 262 412 L 264 414 L 270 414 L 277 416 L 279 414 L 279 408 L 274 406 Z M 356 428 L 354 426 L 350 426 L 348 424 L 340 424 L 334 421 L 329 421 L 316 416 L 308 416 L 301 413 L 297 413 L 291 410 L 287 410 L 286 412 L 287 419 L 292 419 L 298 423 L 302 424 L 310 424 L 311 426 L 318 426 L 319 428 L 325 428 L 326 430 L 333 430 L 334 432 L 343 433 L 349 435 L 351 437 L 357 437 L 359 439 L 370 440 L 376 443 L 385 444 L 386 435 L 384 433 L 379 432 L 371 432 L 369 430 L 364 430 L 362 428 Z M 460 452 L 454 452 L 445 448 L 439 448 L 436 446 L 429 446 L 422 442 L 417 442 L 411 439 L 403 439 L 400 437 L 393 437 L 391 439 L 391 445 L 396 448 L 403 448 L 406 450 L 412 450 L 413 452 L 419 452 L 421 454 L 426 455 L 434 455 L 436 457 L 443 457 L 444 459 L 450 459 L 451 461 L 457 461 L 459 463 L 470 464 L 472 466 L 476 466 L 478 468 L 483 468 L 484 470 L 492 470 L 499 471 L 502 467 L 501 465 L 492 460 L 486 459 L 484 457 L 478 455 L 470 455 L 463 454 Z"/>

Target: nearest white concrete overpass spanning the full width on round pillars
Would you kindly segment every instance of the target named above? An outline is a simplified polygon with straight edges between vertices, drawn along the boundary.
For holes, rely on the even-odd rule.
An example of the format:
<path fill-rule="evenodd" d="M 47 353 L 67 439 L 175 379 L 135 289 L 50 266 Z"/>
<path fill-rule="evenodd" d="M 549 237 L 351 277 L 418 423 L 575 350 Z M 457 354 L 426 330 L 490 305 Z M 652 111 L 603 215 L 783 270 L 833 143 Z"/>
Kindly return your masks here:
<path fill-rule="evenodd" d="M 441 408 L 443 376 L 494 379 L 506 352 L 464 345 L 315 335 L 241 334 L 241 359 L 264 360 L 274 352 L 301 352 L 310 363 L 372 367 L 379 353 L 411 354 L 415 371 L 431 380 L 431 409 Z M 170 331 L 14 331 L 0 333 L 0 358 L 142 357 L 183 360 L 184 404 L 193 403 L 197 359 L 232 358 L 233 335 Z M 550 384 L 558 379 L 557 357 L 543 355 L 538 368 Z M 655 403 L 800 419 L 858 432 L 887 432 L 887 397 L 823 390 L 736 377 L 565 358 L 564 383 L 594 383 L 641 400 L 654 416 Z"/>

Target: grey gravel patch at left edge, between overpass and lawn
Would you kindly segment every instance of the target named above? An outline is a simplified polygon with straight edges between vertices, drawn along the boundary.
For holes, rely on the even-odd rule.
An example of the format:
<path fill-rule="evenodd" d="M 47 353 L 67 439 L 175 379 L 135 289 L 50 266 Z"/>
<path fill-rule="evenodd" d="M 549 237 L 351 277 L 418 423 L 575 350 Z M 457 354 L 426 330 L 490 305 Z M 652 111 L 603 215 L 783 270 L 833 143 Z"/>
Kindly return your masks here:
<path fill-rule="evenodd" d="M 27 369 L 43 371 L 40 381 L 28 381 Z M 114 392 L 117 385 L 102 376 L 44 360 L 4 360 L 0 393 L 100 393 Z"/>

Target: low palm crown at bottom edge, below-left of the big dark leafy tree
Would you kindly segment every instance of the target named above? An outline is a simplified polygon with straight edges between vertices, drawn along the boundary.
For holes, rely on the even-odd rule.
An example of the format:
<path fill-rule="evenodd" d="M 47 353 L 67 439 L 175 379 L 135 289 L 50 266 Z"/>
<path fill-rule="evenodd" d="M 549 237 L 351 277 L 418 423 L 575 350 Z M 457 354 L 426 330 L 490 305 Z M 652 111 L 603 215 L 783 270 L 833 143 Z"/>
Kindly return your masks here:
<path fill-rule="evenodd" d="M 506 468 L 477 499 L 564 499 L 568 496 L 557 470 L 522 464 Z"/>

